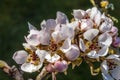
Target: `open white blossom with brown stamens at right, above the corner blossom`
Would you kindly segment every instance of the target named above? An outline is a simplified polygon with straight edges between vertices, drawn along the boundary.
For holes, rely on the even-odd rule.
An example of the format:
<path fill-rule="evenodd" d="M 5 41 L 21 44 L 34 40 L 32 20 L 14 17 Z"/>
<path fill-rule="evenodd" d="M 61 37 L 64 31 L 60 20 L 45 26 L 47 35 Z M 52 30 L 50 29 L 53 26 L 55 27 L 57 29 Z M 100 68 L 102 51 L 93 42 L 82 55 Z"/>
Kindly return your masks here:
<path fill-rule="evenodd" d="M 97 29 L 90 29 L 87 30 L 83 37 L 84 39 L 90 41 L 91 45 L 89 45 L 87 48 L 91 50 L 88 52 L 87 56 L 90 58 L 99 58 L 100 56 L 106 56 L 108 54 L 109 46 L 112 43 L 112 37 L 110 34 L 102 33 L 100 36 L 98 36 L 99 31 Z M 98 41 L 92 42 L 92 40 L 98 36 Z M 85 43 L 82 41 L 80 42 L 80 48 L 84 51 L 85 49 Z"/>

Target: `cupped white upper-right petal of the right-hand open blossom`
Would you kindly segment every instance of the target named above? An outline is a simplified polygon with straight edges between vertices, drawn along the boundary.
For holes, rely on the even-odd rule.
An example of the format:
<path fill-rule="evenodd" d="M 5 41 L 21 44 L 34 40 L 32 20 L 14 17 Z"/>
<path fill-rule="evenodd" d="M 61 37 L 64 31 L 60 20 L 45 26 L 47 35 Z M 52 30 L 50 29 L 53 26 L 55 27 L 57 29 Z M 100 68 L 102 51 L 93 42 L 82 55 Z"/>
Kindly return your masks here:
<path fill-rule="evenodd" d="M 99 46 L 103 47 L 103 46 L 110 46 L 112 43 L 112 37 L 110 36 L 110 34 L 103 33 L 98 37 L 98 44 Z"/>

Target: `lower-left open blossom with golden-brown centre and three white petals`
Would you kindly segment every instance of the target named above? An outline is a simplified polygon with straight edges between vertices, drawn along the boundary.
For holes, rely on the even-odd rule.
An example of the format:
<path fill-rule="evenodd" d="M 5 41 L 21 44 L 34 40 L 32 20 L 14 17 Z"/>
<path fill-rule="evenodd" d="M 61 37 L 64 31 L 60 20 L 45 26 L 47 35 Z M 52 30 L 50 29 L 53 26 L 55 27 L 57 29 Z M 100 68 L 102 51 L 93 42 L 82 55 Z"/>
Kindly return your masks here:
<path fill-rule="evenodd" d="M 18 64 L 21 65 L 21 70 L 25 72 L 35 72 L 38 71 L 44 62 L 45 56 L 48 54 L 45 50 L 36 50 L 35 53 L 28 54 L 24 50 L 15 52 L 13 59 Z"/>

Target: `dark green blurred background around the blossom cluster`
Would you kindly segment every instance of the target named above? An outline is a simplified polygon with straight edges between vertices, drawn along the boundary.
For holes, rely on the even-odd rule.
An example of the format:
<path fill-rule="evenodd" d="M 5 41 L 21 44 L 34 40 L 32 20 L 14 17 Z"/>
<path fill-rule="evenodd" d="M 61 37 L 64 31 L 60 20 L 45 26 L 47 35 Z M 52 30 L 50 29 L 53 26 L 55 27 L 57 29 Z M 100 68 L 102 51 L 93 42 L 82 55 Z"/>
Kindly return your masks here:
<path fill-rule="evenodd" d="M 111 0 L 115 6 L 110 14 L 120 21 L 120 1 Z M 72 18 L 73 9 L 87 9 L 92 7 L 89 0 L 0 0 L 0 59 L 9 65 L 17 65 L 12 60 L 15 51 L 23 49 L 24 36 L 28 34 L 27 22 L 40 29 L 42 20 L 56 18 L 56 12 L 64 12 Z M 120 22 L 115 23 L 119 28 Z M 36 74 L 25 74 L 27 78 L 35 78 Z M 0 70 L 0 80 L 13 80 Z M 51 79 L 50 79 L 51 80 Z M 57 80 L 102 80 L 101 75 L 91 76 L 89 67 L 82 63 L 74 70 L 68 69 L 68 75 L 57 75 Z"/>

